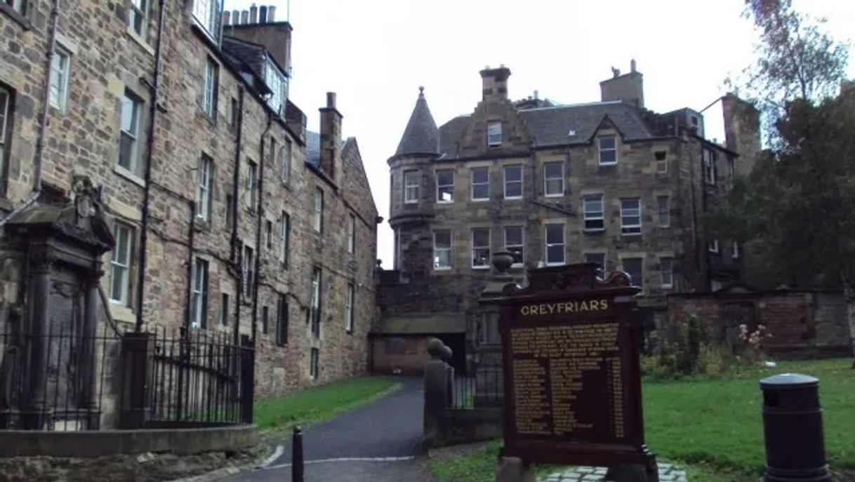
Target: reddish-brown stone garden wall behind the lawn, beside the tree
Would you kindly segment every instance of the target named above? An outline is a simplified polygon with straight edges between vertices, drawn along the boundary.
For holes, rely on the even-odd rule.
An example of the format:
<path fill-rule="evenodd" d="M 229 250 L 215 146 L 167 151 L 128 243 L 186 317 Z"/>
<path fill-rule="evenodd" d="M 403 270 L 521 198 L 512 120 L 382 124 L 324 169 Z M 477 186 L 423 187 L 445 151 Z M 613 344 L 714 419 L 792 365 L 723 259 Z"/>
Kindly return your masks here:
<path fill-rule="evenodd" d="M 657 313 L 657 338 L 668 340 L 677 320 L 697 315 L 722 343 L 735 343 L 739 326 L 764 325 L 772 337 L 764 342 L 779 359 L 849 356 L 852 344 L 842 293 L 826 291 L 717 291 L 668 297 Z"/>

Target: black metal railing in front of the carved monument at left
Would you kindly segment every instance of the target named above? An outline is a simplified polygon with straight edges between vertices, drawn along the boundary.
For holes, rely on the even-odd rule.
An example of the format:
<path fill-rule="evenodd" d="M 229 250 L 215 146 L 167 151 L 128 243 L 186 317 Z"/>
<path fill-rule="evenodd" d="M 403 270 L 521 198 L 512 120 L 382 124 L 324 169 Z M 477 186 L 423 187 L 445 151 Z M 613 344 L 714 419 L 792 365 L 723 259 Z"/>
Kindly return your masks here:
<path fill-rule="evenodd" d="M 248 338 L 162 327 L 118 333 L 4 323 L 0 430 L 83 431 L 252 422 Z M 58 326 L 58 327 L 56 327 Z"/>

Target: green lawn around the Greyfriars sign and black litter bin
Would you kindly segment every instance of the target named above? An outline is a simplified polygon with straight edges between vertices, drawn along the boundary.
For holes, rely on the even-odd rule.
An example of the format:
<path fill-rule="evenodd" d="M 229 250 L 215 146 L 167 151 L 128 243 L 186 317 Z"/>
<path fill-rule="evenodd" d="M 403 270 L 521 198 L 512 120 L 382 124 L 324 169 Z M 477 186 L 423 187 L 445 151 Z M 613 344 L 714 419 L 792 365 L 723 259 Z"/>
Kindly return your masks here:
<path fill-rule="evenodd" d="M 798 372 L 820 379 L 825 449 L 832 470 L 855 468 L 855 370 L 851 359 L 781 362 L 716 377 L 645 380 L 645 434 L 658 460 L 687 468 L 691 481 L 757 480 L 765 452 L 758 381 Z M 500 441 L 452 459 L 432 461 L 438 482 L 495 479 Z M 551 469 L 539 471 L 550 472 Z"/>

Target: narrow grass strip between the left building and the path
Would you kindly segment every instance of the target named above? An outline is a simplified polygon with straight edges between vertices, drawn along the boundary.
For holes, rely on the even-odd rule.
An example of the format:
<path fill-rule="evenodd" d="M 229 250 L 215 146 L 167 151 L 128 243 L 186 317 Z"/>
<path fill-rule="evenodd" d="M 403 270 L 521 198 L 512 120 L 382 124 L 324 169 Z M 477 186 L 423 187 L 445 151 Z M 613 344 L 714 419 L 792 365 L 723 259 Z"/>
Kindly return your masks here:
<path fill-rule="evenodd" d="M 253 418 L 261 430 L 328 420 L 399 387 L 397 381 L 386 377 L 346 379 L 286 397 L 258 400 L 253 407 Z"/>

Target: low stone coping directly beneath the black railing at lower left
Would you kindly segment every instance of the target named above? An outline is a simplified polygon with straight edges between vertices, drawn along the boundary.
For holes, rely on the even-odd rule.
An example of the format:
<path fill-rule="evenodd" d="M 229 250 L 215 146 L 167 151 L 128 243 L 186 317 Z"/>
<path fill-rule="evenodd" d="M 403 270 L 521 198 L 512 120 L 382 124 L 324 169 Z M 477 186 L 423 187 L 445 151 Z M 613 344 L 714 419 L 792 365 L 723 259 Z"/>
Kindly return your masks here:
<path fill-rule="evenodd" d="M 192 455 L 211 451 L 237 451 L 255 445 L 257 435 L 258 427 L 255 425 L 91 432 L 0 430 L 0 458 L 88 458 L 146 452 Z"/>

